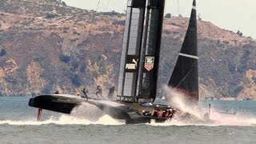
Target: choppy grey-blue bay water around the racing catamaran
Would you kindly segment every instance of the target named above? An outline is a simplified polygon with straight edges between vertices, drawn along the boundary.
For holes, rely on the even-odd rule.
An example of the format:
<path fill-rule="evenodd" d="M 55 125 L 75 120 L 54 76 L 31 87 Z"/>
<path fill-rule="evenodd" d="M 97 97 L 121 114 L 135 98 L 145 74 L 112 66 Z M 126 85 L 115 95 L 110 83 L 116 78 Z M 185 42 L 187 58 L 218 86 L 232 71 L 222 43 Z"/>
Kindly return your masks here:
<path fill-rule="evenodd" d="M 93 106 L 71 115 L 43 110 L 37 122 L 28 100 L 0 97 L 0 143 L 256 143 L 254 101 L 202 101 L 202 109 L 211 104 L 210 123 L 126 125 Z"/>

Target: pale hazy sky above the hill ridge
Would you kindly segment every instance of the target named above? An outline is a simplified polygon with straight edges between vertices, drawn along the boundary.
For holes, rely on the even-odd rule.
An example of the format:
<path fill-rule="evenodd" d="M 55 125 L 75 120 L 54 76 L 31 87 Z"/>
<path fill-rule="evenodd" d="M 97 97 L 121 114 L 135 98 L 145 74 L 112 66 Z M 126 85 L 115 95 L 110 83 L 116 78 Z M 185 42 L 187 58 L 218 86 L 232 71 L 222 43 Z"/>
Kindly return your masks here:
<path fill-rule="evenodd" d="M 127 0 L 62 0 L 68 6 L 98 11 L 124 12 Z M 189 17 L 192 0 L 166 0 L 165 13 Z M 256 38 L 256 0 L 198 0 L 198 14 L 204 21 L 212 22 L 226 30 L 242 31 Z"/>

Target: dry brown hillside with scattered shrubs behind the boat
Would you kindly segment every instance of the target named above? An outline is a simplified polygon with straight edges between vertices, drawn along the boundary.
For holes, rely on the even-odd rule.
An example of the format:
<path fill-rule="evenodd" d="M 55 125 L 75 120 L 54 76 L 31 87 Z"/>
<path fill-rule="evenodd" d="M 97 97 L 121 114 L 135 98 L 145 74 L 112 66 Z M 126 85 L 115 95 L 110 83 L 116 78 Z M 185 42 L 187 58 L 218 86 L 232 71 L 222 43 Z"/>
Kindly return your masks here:
<path fill-rule="evenodd" d="M 1 95 L 117 87 L 124 24 L 123 14 L 54 0 L 0 1 Z M 161 86 L 174 68 L 187 25 L 188 18 L 164 20 Z M 198 21 L 198 48 L 202 97 L 256 98 L 254 39 Z"/>

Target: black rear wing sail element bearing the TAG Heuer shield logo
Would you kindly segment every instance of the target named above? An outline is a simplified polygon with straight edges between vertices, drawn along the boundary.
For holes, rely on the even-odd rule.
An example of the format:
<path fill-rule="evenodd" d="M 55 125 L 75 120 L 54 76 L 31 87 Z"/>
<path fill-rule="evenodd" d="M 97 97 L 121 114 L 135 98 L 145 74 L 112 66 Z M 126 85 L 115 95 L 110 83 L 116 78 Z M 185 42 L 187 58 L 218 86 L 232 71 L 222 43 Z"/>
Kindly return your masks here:
<path fill-rule="evenodd" d="M 149 0 L 142 42 L 138 96 L 156 98 L 165 0 Z"/>

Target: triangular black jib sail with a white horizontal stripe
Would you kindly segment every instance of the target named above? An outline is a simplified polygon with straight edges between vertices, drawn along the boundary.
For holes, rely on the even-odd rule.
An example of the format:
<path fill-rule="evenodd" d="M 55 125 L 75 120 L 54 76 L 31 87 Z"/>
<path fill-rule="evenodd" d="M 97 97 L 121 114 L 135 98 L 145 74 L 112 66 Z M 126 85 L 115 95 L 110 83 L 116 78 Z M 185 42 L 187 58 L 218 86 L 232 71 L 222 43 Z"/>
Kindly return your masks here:
<path fill-rule="evenodd" d="M 185 94 L 189 100 L 198 102 L 198 36 L 196 1 L 190 15 L 190 23 L 178 55 L 168 86 Z"/>

